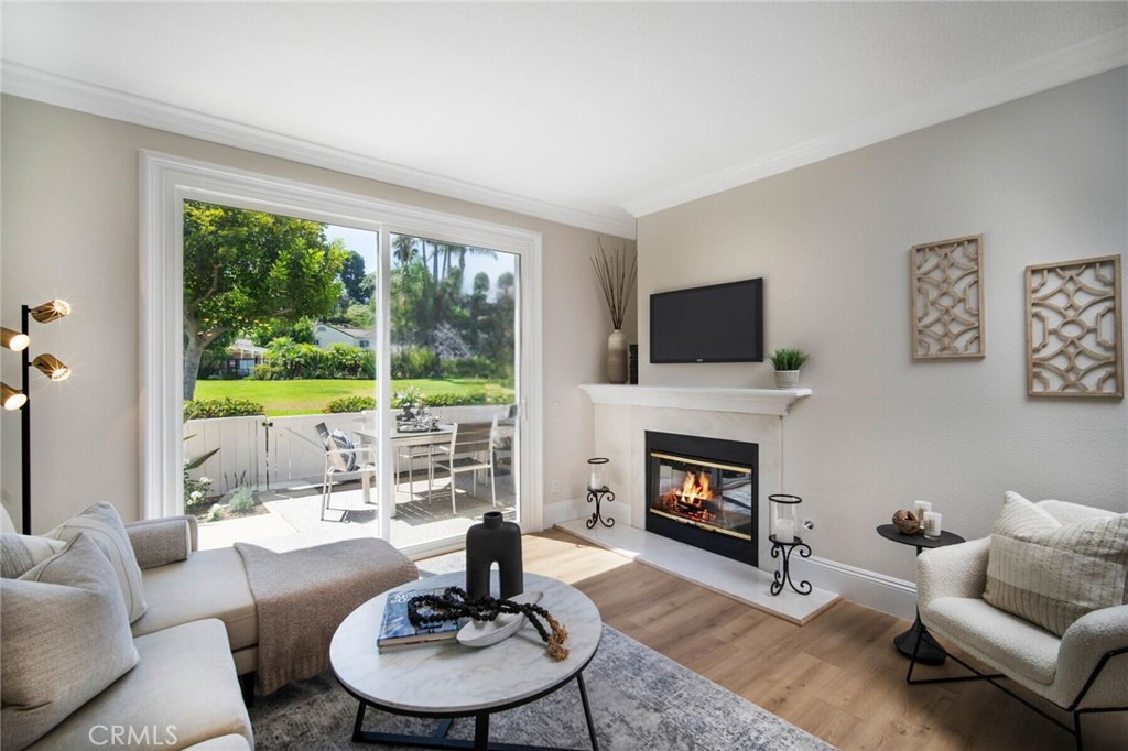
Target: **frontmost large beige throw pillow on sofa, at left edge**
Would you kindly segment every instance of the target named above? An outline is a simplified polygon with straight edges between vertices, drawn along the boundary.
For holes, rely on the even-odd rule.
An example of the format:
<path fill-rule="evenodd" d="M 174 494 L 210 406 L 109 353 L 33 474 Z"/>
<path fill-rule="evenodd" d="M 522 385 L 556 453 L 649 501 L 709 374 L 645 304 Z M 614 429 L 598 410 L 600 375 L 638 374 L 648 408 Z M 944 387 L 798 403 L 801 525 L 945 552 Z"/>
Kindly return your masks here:
<path fill-rule="evenodd" d="M 0 745 L 23 749 L 138 662 L 113 566 L 86 534 L 2 580 Z"/>

